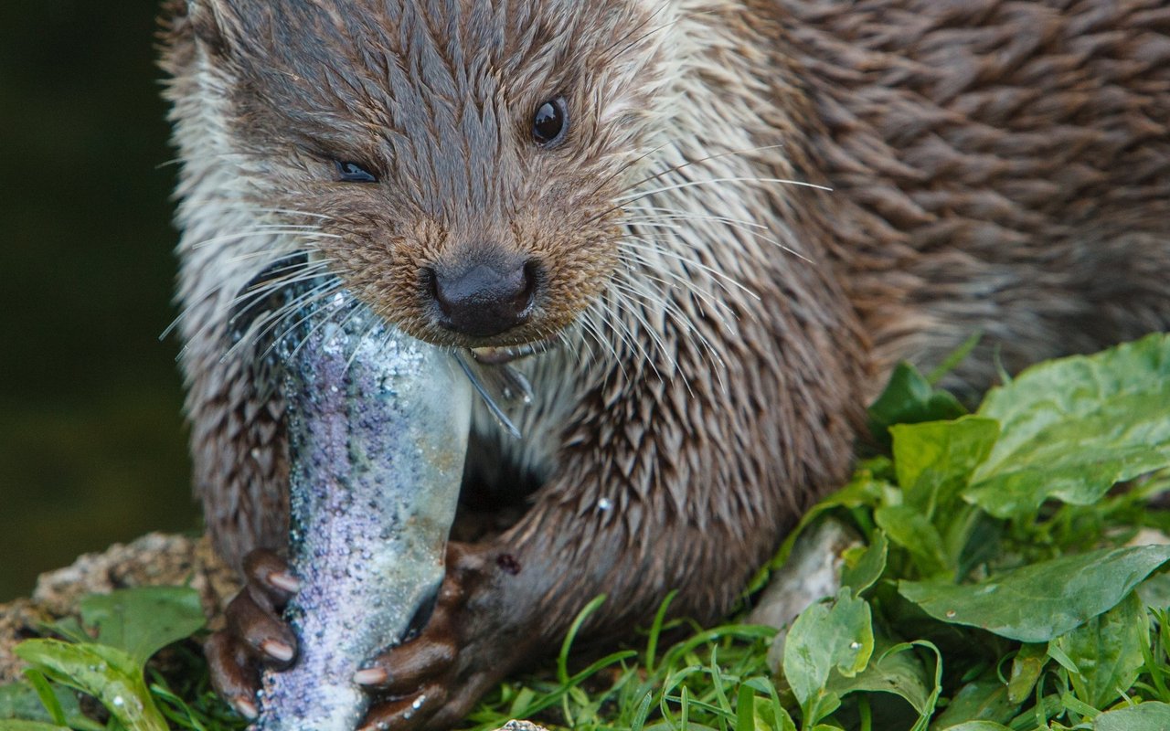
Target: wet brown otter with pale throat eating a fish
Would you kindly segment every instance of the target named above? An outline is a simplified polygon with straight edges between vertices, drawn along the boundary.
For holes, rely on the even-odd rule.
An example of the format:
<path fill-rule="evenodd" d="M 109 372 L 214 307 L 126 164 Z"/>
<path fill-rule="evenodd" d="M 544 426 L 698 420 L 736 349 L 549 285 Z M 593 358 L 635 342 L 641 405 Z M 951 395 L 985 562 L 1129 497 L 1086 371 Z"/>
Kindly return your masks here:
<path fill-rule="evenodd" d="M 233 313 L 336 274 L 534 385 L 473 418 L 418 636 L 356 678 L 441 729 L 504 674 L 670 611 L 710 621 L 846 477 L 892 364 L 1007 370 L 1170 324 L 1164 0 L 168 0 L 194 483 L 247 577 L 207 644 L 255 712 L 282 404 Z M 269 288 L 264 290 L 263 288 Z M 997 357 L 992 357 L 992 356 Z"/>

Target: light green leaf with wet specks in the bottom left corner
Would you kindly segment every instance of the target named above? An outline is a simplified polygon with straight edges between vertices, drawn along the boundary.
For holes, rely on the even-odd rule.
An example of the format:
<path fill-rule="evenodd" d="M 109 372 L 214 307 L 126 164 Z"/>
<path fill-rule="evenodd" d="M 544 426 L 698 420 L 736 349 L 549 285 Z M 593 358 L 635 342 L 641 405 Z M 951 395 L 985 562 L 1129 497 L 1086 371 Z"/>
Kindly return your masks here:
<path fill-rule="evenodd" d="M 87 692 L 133 731 L 166 731 L 166 722 L 130 655 L 104 644 L 27 640 L 15 654 L 53 680 Z"/>

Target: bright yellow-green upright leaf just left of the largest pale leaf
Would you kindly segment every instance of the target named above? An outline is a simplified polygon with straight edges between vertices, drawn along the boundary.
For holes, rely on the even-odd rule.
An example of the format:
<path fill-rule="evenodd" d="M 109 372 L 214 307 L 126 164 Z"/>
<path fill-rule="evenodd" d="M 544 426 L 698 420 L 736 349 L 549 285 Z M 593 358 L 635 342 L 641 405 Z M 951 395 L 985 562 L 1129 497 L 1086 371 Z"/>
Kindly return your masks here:
<path fill-rule="evenodd" d="M 966 488 L 971 473 L 991 454 L 999 436 L 993 419 L 964 416 L 890 427 L 894 467 L 906 503 L 928 518 L 948 508 Z"/>

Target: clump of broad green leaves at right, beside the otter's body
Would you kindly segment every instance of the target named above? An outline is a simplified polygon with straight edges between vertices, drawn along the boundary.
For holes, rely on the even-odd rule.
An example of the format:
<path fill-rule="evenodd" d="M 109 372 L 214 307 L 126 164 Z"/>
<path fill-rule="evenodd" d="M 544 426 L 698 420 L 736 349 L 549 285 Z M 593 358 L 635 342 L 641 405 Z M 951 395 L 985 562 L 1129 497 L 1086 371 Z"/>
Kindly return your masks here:
<path fill-rule="evenodd" d="M 1142 476 L 1170 466 L 1170 337 L 1037 366 L 976 413 L 956 411 L 899 368 L 872 412 L 892 458 L 863 463 L 801 526 L 837 513 L 869 549 L 846 557 L 841 594 L 787 634 L 800 727 L 876 727 L 867 719 L 888 704 L 878 690 L 913 709 L 902 727 L 915 730 L 1170 727 L 1158 725 L 1170 711 L 1165 601 L 1142 599 L 1165 598 L 1155 572 L 1170 546 L 1124 545 L 1164 522 L 1143 508 L 1170 481 Z M 868 626 L 839 612 L 859 595 Z M 860 667 L 824 661 L 863 654 L 869 632 L 890 649 Z M 900 655 L 916 662 L 873 682 Z M 849 692 L 870 697 L 846 704 Z"/>

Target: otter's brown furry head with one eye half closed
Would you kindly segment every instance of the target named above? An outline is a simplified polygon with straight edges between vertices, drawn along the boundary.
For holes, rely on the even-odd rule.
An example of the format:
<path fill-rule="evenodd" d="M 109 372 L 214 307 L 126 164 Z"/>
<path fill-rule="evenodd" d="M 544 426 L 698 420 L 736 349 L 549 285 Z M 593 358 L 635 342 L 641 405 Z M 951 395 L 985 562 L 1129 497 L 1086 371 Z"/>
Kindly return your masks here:
<path fill-rule="evenodd" d="M 618 196 L 654 144 L 668 6 L 173 2 L 177 87 L 221 117 L 208 152 L 406 332 L 542 340 L 605 288 Z"/>

